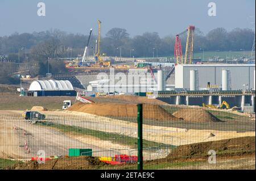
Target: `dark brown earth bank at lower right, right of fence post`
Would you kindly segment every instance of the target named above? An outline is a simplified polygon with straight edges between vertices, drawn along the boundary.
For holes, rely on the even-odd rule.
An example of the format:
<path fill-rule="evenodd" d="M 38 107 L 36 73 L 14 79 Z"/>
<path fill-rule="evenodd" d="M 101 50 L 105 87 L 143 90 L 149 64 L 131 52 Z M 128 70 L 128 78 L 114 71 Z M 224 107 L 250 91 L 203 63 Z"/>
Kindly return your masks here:
<path fill-rule="evenodd" d="M 167 158 L 191 157 L 196 155 L 208 155 L 209 150 L 216 153 L 220 151 L 254 151 L 255 152 L 255 136 L 231 138 L 220 141 L 201 142 L 199 144 L 181 145 L 172 150 Z"/>

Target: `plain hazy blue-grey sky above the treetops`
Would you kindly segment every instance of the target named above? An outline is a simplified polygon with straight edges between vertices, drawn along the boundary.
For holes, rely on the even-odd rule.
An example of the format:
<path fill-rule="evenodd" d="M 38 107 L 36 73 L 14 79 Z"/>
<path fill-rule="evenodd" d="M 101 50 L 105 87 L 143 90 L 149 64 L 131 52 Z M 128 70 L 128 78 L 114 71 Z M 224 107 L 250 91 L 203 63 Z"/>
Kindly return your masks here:
<path fill-rule="evenodd" d="M 46 16 L 38 16 L 39 2 L 46 4 Z M 216 3 L 216 16 L 208 15 L 209 2 Z M 102 35 L 114 27 L 131 36 L 176 35 L 191 24 L 204 33 L 216 27 L 230 31 L 254 27 L 255 0 L 0 0 L 0 36 L 51 28 L 87 35 L 97 19 Z"/>

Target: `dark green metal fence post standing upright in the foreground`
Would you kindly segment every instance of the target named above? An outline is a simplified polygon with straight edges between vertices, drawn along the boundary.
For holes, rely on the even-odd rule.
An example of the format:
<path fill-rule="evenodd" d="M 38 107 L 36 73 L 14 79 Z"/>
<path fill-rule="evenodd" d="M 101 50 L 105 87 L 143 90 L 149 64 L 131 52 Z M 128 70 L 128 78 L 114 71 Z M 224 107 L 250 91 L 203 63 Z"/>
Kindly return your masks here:
<path fill-rule="evenodd" d="M 142 144 L 142 104 L 137 104 L 138 108 L 138 115 L 137 115 L 137 121 L 138 121 L 138 170 L 143 169 L 143 157 L 142 157 L 142 151 L 143 151 L 143 144 Z"/>

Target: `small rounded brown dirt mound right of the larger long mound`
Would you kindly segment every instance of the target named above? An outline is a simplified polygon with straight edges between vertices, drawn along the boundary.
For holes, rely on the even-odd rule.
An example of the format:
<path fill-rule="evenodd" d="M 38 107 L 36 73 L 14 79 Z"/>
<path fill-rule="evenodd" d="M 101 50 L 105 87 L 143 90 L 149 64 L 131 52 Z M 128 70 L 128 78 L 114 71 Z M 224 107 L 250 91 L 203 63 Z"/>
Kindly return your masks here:
<path fill-rule="evenodd" d="M 186 120 L 186 121 L 193 121 L 198 123 L 221 122 L 221 120 L 213 116 L 212 113 L 200 108 L 199 109 L 195 109 L 195 108 L 180 109 L 174 112 L 173 115 L 175 117 L 183 118 L 183 120 Z"/>

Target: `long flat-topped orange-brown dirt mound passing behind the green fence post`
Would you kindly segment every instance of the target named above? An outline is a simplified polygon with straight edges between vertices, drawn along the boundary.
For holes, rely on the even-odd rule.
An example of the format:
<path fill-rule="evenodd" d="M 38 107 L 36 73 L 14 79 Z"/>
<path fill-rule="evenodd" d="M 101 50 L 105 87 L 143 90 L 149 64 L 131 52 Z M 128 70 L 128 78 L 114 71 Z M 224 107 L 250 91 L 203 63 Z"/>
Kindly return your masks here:
<path fill-rule="evenodd" d="M 76 103 L 68 111 L 79 111 L 99 116 L 137 117 L 137 104 Z M 155 104 L 143 104 L 143 117 L 154 120 L 181 120 Z"/>

